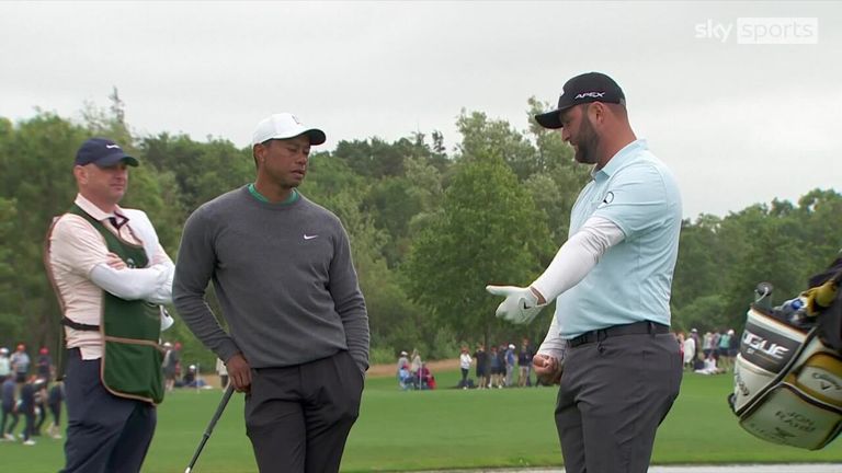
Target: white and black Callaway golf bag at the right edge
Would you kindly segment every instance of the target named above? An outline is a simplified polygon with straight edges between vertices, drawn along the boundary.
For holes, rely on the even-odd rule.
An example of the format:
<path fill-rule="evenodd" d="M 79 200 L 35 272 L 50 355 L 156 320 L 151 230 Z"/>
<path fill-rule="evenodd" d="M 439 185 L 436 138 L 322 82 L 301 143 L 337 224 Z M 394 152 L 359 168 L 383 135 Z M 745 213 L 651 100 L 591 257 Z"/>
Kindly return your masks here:
<path fill-rule="evenodd" d="M 842 431 L 842 357 L 822 339 L 818 323 L 819 316 L 842 316 L 842 293 L 832 278 L 822 284 L 828 281 L 831 298 L 817 304 L 812 289 L 801 295 L 812 310 L 806 319 L 762 303 L 770 286 L 761 286 L 763 295 L 749 309 L 729 402 L 740 426 L 759 438 L 817 450 Z"/>

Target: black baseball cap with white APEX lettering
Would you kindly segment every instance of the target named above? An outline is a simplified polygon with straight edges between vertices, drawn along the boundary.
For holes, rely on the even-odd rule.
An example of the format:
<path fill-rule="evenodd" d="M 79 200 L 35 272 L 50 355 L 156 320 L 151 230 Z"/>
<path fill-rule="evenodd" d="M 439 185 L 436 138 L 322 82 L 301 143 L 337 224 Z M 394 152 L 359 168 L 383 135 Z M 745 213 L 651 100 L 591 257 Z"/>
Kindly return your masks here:
<path fill-rule="evenodd" d="M 561 128 L 562 111 L 590 102 L 625 104 L 626 95 L 614 79 L 600 72 L 587 72 L 567 81 L 556 109 L 535 115 L 535 120 L 544 128 Z"/>

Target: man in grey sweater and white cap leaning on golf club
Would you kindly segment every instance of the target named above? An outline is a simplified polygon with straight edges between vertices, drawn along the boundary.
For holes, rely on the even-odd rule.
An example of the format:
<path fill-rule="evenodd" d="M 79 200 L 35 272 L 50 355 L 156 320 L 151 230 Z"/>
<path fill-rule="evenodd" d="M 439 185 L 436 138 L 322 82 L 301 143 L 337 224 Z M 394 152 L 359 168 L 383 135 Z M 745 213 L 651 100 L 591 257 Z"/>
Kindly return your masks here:
<path fill-rule="evenodd" d="M 252 138 L 257 180 L 190 216 L 173 302 L 246 393 L 262 472 L 335 472 L 359 415 L 368 316 L 342 223 L 296 187 L 325 134 L 291 114 Z M 204 300 L 213 280 L 226 333 Z"/>

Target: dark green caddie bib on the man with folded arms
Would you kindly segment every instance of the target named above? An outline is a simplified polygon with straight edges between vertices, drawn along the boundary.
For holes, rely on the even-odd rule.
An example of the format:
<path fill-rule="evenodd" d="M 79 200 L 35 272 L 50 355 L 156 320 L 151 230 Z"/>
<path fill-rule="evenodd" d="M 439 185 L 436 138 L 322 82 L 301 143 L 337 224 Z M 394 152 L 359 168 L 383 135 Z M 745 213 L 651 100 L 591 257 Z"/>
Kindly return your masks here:
<path fill-rule="evenodd" d="M 118 255 L 130 268 L 144 268 L 149 258 L 140 245 L 123 241 L 100 221 L 73 205 L 69 214 L 88 220 L 102 234 L 109 251 Z M 104 355 L 100 378 L 110 392 L 123 397 L 160 404 L 163 401 L 163 355 L 160 308 L 143 300 L 125 300 L 102 291 Z"/>

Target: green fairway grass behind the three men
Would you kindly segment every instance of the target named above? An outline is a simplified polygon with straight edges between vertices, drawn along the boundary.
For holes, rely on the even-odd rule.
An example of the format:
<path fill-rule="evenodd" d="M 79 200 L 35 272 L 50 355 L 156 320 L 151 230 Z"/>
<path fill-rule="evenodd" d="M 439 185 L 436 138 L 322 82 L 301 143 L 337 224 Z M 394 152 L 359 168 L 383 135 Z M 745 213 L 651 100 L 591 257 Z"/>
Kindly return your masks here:
<path fill-rule="evenodd" d="M 560 465 L 553 407 L 556 389 L 454 390 L 457 373 L 436 373 L 435 391 L 401 392 L 391 378 L 367 381 L 360 420 L 342 471 L 407 471 Z M 728 411 L 729 376 L 686 374 L 681 396 L 658 432 L 655 463 L 842 462 L 842 442 L 810 452 L 762 442 Z M 146 472 L 183 472 L 220 399 L 219 390 L 178 391 L 158 413 Z M 19 427 L 20 428 L 20 427 Z M 61 441 L 0 443 L 3 472 L 55 472 Z M 254 472 L 235 395 L 194 470 Z"/>

